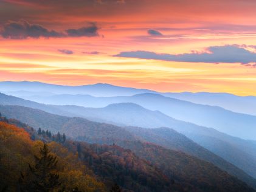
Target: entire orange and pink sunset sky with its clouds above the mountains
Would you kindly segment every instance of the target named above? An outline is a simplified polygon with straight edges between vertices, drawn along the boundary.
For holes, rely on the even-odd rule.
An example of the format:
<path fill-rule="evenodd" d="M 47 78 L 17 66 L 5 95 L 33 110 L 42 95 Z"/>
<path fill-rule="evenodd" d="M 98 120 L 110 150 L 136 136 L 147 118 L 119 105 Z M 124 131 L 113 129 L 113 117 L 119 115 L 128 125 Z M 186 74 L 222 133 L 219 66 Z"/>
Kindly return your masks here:
<path fill-rule="evenodd" d="M 0 81 L 256 95 L 254 0 L 0 0 Z"/>

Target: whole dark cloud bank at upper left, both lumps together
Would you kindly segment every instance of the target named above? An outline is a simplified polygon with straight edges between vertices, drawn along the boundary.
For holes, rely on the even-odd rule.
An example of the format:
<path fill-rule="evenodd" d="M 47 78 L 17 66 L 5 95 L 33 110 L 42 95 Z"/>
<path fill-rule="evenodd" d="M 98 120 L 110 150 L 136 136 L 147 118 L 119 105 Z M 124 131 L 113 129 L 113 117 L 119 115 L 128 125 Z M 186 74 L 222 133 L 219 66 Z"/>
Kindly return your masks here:
<path fill-rule="evenodd" d="M 66 33 L 56 32 L 55 30 L 46 29 L 39 24 L 30 24 L 25 20 L 18 22 L 9 21 L 2 27 L 0 35 L 3 38 L 26 39 L 26 38 L 60 38 L 65 36 L 99 36 L 99 27 L 91 22 L 86 27 L 80 29 L 67 29 Z"/>

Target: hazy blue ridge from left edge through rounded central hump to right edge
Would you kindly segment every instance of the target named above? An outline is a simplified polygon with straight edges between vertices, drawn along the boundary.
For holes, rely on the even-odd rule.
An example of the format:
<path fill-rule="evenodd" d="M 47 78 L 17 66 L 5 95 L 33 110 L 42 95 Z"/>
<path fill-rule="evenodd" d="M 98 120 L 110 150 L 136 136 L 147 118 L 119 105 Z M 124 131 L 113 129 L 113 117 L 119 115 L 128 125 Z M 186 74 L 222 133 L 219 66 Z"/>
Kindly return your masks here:
<path fill-rule="evenodd" d="M 85 117 L 96 122 L 112 123 L 118 126 L 140 127 L 169 127 L 186 135 L 194 142 L 209 149 L 223 159 L 233 163 L 256 177 L 255 143 L 229 136 L 212 128 L 198 126 L 189 122 L 182 122 L 171 118 L 159 111 L 150 111 L 133 103 L 119 103 L 109 105 L 106 108 L 83 108 L 80 106 L 54 106 L 43 105 L 33 101 L 0 94 L 1 105 L 21 105 L 30 108 L 41 109 L 53 114 L 66 115 L 69 117 Z M 18 114 L 18 109 L 15 109 Z M 22 111 L 19 114 L 22 114 Z M 40 115 L 38 115 L 39 117 Z M 24 119 L 31 117 L 25 116 Z M 19 117 L 15 117 L 18 118 Z M 24 120 L 22 119 L 22 120 Z M 47 118 L 48 120 L 50 118 Z M 31 124 L 31 123 L 29 123 Z M 33 125 L 33 124 L 32 124 Z M 60 123 L 50 125 L 60 126 Z M 38 126 L 33 125 L 38 128 Z M 78 132 L 77 132 L 78 134 Z M 222 145 L 220 145 L 222 143 Z M 218 145 L 216 145 L 218 144 Z M 248 163 L 251 162 L 251 163 Z"/>

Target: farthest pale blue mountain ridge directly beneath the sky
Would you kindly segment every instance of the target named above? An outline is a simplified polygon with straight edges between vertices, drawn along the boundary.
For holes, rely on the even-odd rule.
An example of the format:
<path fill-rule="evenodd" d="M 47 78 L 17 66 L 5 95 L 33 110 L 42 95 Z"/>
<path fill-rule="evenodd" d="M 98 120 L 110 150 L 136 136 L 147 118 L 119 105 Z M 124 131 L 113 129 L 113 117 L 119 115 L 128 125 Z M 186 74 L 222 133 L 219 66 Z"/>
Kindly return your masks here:
<path fill-rule="evenodd" d="M 88 84 L 82 86 L 63 86 L 57 84 L 41 83 L 37 81 L 2 81 L 0 82 L 0 92 L 7 95 L 13 95 L 16 97 L 26 98 L 28 100 L 33 100 L 32 96 L 36 98 L 40 97 L 50 97 L 58 94 L 69 95 L 70 98 L 75 100 L 80 100 L 73 103 L 57 103 L 60 97 L 50 97 L 49 100 L 55 100 L 55 103 L 48 103 L 52 105 L 79 105 L 82 103 L 82 95 L 92 95 L 94 97 L 116 97 L 116 96 L 131 96 L 143 93 L 156 93 L 164 95 L 165 97 L 177 98 L 179 100 L 190 101 L 192 103 L 198 103 L 202 105 L 210 106 L 220 106 L 224 109 L 256 115 L 256 97 L 246 96 L 241 97 L 234 94 L 227 93 L 214 93 L 214 92 L 156 92 L 149 89 L 137 89 L 133 87 L 122 87 L 114 86 L 112 84 L 97 83 Z M 64 96 L 64 95 L 62 95 Z M 84 96 L 86 97 L 86 96 Z M 47 98 L 41 98 L 40 103 L 44 103 L 43 100 Z M 48 101 L 49 101 L 48 100 Z M 62 100 L 64 101 L 64 100 Z M 47 102 L 46 102 L 47 103 Z M 83 105 L 82 105 L 83 106 Z M 87 105 L 89 107 L 89 105 Z M 103 107 L 103 106 L 91 106 L 91 107 Z"/>

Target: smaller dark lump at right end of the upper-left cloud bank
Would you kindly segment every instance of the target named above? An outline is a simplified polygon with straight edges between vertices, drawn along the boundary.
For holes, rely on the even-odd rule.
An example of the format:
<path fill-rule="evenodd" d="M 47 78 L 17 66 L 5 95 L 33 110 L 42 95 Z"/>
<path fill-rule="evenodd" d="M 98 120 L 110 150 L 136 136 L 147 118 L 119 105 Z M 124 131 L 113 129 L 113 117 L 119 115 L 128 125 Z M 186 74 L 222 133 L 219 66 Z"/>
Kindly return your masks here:
<path fill-rule="evenodd" d="M 80 29 L 67 29 L 68 36 L 99 36 L 99 27 L 95 23 L 89 24 L 87 27 L 81 27 Z"/>

